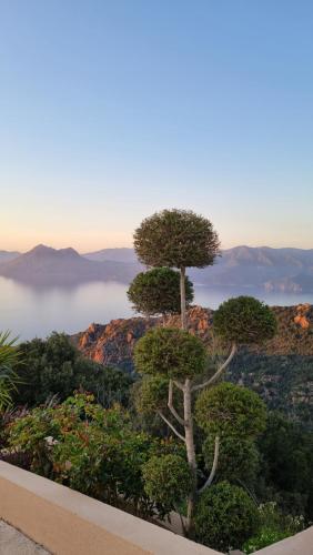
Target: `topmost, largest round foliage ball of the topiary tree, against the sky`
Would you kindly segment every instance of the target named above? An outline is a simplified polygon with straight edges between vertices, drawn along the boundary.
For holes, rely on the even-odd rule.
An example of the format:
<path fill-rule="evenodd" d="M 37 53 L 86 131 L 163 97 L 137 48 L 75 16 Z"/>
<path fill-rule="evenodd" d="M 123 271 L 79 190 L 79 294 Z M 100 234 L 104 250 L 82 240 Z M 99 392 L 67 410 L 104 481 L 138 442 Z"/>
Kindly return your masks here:
<path fill-rule="evenodd" d="M 147 218 L 134 232 L 134 249 L 148 266 L 204 268 L 219 254 L 212 223 L 186 210 L 163 210 Z"/>

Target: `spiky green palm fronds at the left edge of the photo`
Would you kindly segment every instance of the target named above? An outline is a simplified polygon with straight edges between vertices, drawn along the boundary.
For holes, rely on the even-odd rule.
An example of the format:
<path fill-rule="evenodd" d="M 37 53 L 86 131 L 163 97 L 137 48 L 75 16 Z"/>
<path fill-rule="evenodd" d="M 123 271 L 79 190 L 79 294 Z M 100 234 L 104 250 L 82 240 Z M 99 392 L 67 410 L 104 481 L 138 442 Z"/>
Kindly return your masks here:
<path fill-rule="evenodd" d="M 0 332 L 0 411 L 11 404 L 19 381 L 14 371 L 19 359 L 16 341 L 10 340 L 10 332 Z"/>

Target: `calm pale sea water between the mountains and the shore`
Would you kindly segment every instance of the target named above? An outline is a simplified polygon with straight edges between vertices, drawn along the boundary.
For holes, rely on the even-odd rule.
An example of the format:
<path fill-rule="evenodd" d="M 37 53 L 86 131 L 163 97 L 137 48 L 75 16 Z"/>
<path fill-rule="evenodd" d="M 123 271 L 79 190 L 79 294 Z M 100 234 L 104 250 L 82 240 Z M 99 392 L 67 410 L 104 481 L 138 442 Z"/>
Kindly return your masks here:
<path fill-rule="evenodd" d="M 91 322 L 107 323 L 112 319 L 134 315 L 127 285 L 114 282 L 92 282 L 74 287 L 33 287 L 0 278 L 0 331 L 11 330 L 21 340 L 46 337 L 53 330 L 75 333 Z M 239 294 L 252 294 L 270 305 L 313 304 L 313 294 L 265 293 L 252 290 L 234 291 L 195 286 L 196 304 L 216 309 Z"/>

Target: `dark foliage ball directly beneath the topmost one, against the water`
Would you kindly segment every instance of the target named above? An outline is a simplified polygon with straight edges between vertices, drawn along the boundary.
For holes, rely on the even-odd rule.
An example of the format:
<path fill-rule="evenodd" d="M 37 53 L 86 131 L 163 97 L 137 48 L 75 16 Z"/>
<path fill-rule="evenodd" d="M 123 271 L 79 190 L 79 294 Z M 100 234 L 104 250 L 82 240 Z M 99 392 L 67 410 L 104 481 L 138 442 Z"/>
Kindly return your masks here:
<path fill-rule="evenodd" d="M 137 312 L 174 314 L 180 312 L 180 273 L 171 268 L 154 268 L 138 274 L 128 290 Z M 193 285 L 185 278 L 186 305 L 193 301 Z"/>

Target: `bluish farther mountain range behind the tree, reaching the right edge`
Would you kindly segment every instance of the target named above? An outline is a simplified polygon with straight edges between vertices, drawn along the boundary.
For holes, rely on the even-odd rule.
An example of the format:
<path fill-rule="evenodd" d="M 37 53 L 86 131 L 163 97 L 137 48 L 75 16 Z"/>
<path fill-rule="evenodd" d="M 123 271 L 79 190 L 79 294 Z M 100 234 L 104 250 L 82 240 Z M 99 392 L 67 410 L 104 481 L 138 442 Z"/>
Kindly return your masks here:
<path fill-rule="evenodd" d="M 103 249 L 84 256 L 101 261 L 137 261 L 133 249 Z M 222 251 L 213 266 L 191 268 L 188 274 L 196 285 L 312 293 L 313 249 L 235 246 Z"/>

